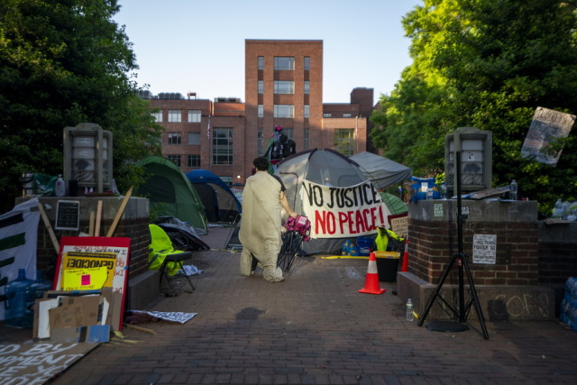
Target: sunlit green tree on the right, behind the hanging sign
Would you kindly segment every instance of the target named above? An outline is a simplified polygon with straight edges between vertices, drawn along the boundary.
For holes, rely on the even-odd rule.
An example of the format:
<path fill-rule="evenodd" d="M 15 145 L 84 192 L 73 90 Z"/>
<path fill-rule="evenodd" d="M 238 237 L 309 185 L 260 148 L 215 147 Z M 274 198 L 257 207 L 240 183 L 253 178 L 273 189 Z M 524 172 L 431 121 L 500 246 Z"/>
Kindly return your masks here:
<path fill-rule="evenodd" d="M 577 197 L 577 128 L 556 167 L 521 156 L 536 107 L 577 113 L 577 17 L 555 0 L 425 0 L 403 19 L 413 63 L 381 96 L 371 138 L 420 176 L 443 172 L 444 136 L 490 130 L 493 186 L 511 179 L 548 211 Z"/>

